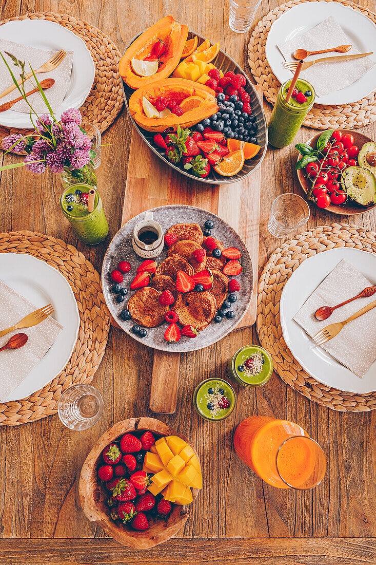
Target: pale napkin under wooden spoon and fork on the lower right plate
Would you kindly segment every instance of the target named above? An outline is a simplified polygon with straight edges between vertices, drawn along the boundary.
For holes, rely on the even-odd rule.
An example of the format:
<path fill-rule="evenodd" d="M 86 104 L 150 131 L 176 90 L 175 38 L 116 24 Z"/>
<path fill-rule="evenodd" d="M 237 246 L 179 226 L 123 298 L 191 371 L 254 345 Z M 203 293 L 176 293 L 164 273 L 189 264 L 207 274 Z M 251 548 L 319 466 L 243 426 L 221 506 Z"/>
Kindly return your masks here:
<path fill-rule="evenodd" d="M 366 286 L 373 286 L 373 283 L 346 259 L 342 259 L 326 279 L 318 285 L 294 316 L 294 320 L 310 337 L 313 337 L 327 325 L 346 320 L 362 307 L 373 302 L 376 295 L 357 298 L 346 306 L 334 310 L 330 318 L 323 321 L 318 321 L 314 317 L 317 308 L 336 306 L 356 296 Z M 321 347 L 355 375 L 362 378 L 376 359 L 376 308 L 346 324 L 338 335 Z"/>

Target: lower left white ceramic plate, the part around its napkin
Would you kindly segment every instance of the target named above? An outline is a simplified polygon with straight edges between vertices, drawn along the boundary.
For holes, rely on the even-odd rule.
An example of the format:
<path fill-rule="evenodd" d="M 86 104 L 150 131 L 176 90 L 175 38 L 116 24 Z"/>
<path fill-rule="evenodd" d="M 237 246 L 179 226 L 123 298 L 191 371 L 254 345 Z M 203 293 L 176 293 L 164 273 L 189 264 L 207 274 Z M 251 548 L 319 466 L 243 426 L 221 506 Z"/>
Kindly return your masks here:
<path fill-rule="evenodd" d="M 43 359 L 7 399 L 19 400 L 50 383 L 63 370 L 76 345 L 80 315 L 68 281 L 41 259 L 26 253 L 0 253 L 0 278 L 37 308 L 51 303 L 53 318 L 63 325 Z"/>

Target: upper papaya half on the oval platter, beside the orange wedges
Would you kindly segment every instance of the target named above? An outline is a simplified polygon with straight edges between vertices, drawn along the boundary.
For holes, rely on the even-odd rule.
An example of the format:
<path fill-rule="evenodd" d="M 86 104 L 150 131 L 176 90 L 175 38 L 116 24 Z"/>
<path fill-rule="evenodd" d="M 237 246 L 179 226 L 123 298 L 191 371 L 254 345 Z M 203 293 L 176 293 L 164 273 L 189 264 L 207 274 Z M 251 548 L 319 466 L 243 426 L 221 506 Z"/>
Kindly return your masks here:
<path fill-rule="evenodd" d="M 167 79 L 180 61 L 180 56 L 188 36 L 186 25 L 166 16 L 141 33 L 128 47 L 119 62 L 119 72 L 130 88 L 140 88 L 157 79 Z M 158 71 L 152 76 L 139 76 L 133 69 L 133 58 L 142 60 L 153 53 L 157 41 L 163 41 L 166 49 L 160 56 Z"/>

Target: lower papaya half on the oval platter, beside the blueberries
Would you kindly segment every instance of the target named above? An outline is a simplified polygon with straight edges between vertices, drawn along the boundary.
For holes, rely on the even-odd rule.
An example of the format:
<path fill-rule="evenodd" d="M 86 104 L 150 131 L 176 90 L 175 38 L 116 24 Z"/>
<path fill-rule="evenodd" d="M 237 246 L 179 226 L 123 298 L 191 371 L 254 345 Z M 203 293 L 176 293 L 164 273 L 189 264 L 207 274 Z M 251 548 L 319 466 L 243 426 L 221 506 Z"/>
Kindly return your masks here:
<path fill-rule="evenodd" d="M 152 105 L 159 96 L 173 98 L 180 104 L 189 96 L 202 98 L 202 103 L 192 110 L 184 112 L 181 116 L 170 114 L 164 118 L 148 118 L 143 111 L 142 98 L 148 99 Z M 139 126 L 149 132 L 163 132 L 164 129 L 172 127 L 175 131 L 178 125 L 182 128 L 190 128 L 204 118 L 215 114 L 218 110 L 215 92 L 209 86 L 199 84 L 186 79 L 156 80 L 150 84 L 135 90 L 129 99 L 129 112 Z"/>

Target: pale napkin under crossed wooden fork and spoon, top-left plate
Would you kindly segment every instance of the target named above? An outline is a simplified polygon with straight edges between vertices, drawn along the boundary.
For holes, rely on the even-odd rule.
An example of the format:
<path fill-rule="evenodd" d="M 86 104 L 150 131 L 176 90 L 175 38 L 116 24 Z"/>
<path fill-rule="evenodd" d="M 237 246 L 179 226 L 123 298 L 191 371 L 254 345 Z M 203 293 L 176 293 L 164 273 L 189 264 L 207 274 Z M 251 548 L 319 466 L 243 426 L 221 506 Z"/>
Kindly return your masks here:
<path fill-rule="evenodd" d="M 5 51 L 11 53 L 12 55 L 15 55 L 15 57 L 18 60 L 25 62 L 26 75 L 31 71 L 28 63 L 30 63 L 31 66 L 33 67 L 33 71 L 36 71 L 38 67 L 41 67 L 43 63 L 46 63 L 49 59 L 51 59 L 53 55 L 56 55 L 56 53 L 58 53 L 58 51 L 46 51 L 45 49 L 37 49 L 36 47 L 20 45 L 18 43 L 14 43 L 13 41 L 8 41 L 3 39 L 0 39 L 0 51 L 4 56 L 6 62 L 10 66 L 16 80 L 20 78 L 21 69 L 15 66 L 12 59 L 5 54 Z M 67 51 L 67 55 L 65 55 L 62 62 L 59 64 L 58 67 L 54 69 L 54 71 L 37 74 L 37 79 L 39 82 L 41 82 L 44 79 L 55 79 L 55 84 L 45 92 L 46 98 L 49 101 L 54 114 L 59 110 L 60 106 L 62 105 L 62 102 L 65 97 L 65 93 L 67 92 L 69 79 L 71 77 L 72 63 L 73 63 L 73 51 Z M 6 88 L 8 88 L 8 86 L 12 84 L 14 83 L 10 75 L 10 72 L 8 71 L 8 68 L 4 63 L 3 59 L 0 57 L 0 92 L 5 90 Z M 36 86 L 36 82 L 34 77 L 32 77 L 31 79 L 25 82 L 25 92 L 29 92 L 29 90 L 33 90 L 34 86 Z M 14 100 L 19 96 L 20 96 L 20 92 L 16 88 L 12 90 L 10 94 L 7 94 L 3 98 L 0 98 L 0 104 Z M 28 97 L 28 100 L 30 104 L 32 104 L 37 114 L 50 113 L 40 93 L 36 92 L 35 94 L 31 94 Z M 29 113 L 30 108 L 24 100 L 20 100 L 20 102 L 16 102 L 15 105 L 12 106 L 12 110 L 15 110 L 16 112 Z"/>

